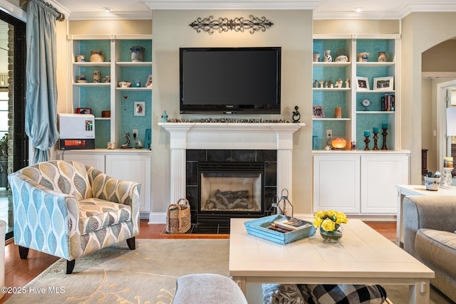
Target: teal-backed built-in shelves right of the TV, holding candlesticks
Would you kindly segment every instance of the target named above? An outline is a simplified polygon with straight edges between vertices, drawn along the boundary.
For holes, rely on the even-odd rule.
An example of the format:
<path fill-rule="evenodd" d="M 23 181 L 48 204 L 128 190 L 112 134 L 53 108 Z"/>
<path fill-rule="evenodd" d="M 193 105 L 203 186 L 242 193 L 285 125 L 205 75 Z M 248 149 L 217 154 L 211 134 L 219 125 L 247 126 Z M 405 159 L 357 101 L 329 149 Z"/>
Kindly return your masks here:
<path fill-rule="evenodd" d="M 326 50 L 331 51 L 333 62 L 322 62 Z M 386 52 L 388 59 L 378 62 L 378 53 Z M 360 62 L 358 53 L 370 53 L 366 62 Z M 368 145 L 373 149 L 373 127 L 379 129 L 378 142 L 382 145 L 382 127 L 387 126 L 386 146 L 389 150 L 400 149 L 400 36 L 390 35 L 314 35 L 314 53 L 320 54 L 318 62 L 313 63 L 313 105 L 322 108 L 324 117 L 314 117 L 312 135 L 313 150 L 326 147 L 326 130 L 332 130 L 333 137 L 343 137 L 348 142 L 356 142 L 358 150 L 365 147 L 364 132 L 371 133 Z M 347 62 L 336 61 L 338 54 L 348 57 Z M 358 88 L 358 78 L 367 80 L 368 90 Z M 373 88 L 375 78 L 390 78 L 391 89 Z M 326 87 L 338 79 L 343 80 L 342 88 Z M 321 87 L 323 80 L 323 88 Z M 348 80 L 348 85 L 345 80 Z M 380 83 L 380 81 L 378 81 Z M 385 94 L 395 98 L 394 110 L 382 110 L 381 101 Z M 363 100 L 370 100 L 367 107 Z M 342 118 L 335 118 L 334 109 L 342 108 Z"/>

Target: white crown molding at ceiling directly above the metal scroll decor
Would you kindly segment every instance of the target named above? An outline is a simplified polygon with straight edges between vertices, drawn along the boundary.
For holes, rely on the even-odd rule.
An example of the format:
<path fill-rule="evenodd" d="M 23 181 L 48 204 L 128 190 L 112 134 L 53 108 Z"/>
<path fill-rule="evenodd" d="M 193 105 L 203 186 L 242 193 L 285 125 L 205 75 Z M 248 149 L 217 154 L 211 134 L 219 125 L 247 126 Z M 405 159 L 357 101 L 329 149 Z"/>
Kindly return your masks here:
<path fill-rule="evenodd" d="M 152 10 L 162 9 L 310 9 L 314 10 L 321 4 L 322 0 L 249 0 L 249 1 L 230 1 L 230 0 L 144 0 L 145 5 L 149 6 Z"/>

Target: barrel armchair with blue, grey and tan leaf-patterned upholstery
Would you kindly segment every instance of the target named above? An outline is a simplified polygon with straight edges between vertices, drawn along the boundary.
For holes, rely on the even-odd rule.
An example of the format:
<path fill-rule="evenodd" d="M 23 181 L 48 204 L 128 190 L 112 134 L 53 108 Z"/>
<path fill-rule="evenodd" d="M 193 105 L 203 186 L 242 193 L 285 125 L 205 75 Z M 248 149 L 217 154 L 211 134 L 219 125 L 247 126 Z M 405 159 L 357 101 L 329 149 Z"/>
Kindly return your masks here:
<path fill-rule="evenodd" d="M 14 243 L 76 258 L 126 240 L 135 249 L 139 234 L 140 184 L 108 177 L 94 167 L 61 160 L 41 162 L 9 174 L 14 205 Z"/>

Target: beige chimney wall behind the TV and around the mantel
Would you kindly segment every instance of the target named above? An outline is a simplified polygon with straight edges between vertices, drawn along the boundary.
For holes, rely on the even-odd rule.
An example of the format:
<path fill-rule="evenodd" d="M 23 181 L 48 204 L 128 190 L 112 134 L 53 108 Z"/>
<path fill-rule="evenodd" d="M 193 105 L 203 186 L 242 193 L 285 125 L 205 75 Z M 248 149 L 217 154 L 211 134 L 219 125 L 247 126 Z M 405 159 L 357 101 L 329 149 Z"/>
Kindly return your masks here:
<path fill-rule="evenodd" d="M 274 26 L 254 34 L 197 33 L 189 26 L 198 17 L 248 18 L 265 16 Z M 170 136 L 157 126 L 163 110 L 170 118 L 179 114 L 179 48 L 195 46 L 281 46 L 281 115 L 257 117 L 291 119 L 298 105 L 306 127 L 294 134 L 293 193 L 296 213 L 311 212 L 311 103 L 312 11 L 155 11 L 152 19 L 154 89 L 152 91 L 152 213 L 170 204 Z M 213 75 L 206 75 L 213 77 Z M 202 117 L 184 115 L 183 118 Z M 217 117 L 211 115 L 211 117 Z M 237 115 L 237 117 L 242 117 Z M 252 116 L 249 116 L 252 117 Z"/>

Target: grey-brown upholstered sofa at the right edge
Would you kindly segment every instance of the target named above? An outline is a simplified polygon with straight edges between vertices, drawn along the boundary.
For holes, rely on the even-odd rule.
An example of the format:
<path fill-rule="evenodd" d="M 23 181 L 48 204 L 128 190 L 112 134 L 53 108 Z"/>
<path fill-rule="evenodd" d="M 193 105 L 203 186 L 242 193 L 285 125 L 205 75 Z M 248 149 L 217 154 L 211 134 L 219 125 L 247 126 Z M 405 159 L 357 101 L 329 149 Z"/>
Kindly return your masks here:
<path fill-rule="evenodd" d="M 405 196 L 403 219 L 405 251 L 431 268 L 430 283 L 456 302 L 456 196 Z"/>

